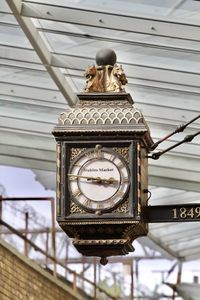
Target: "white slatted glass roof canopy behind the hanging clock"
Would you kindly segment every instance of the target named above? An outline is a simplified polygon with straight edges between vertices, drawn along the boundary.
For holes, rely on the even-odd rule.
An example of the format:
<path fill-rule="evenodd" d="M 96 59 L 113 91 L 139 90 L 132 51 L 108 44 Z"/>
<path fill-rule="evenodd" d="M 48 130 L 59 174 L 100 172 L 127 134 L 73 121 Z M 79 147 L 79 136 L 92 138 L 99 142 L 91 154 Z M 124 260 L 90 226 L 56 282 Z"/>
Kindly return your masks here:
<path fill-rule="evenodd" d="M 115 50 L 155 142 L 189 122 L 200 113 L 199 39 L 200 1 L 0 0 L 0 164 L 55 188 L 51 131 L 101 48 Z M 198 119 L 159 150 L 199 130 Z M 200 203 L 200 136 L 149 160 L 149 183 L 150 204 Z M 143 243 L 192 260 L 199 234 L 200 223 L 152 224 Z"/>

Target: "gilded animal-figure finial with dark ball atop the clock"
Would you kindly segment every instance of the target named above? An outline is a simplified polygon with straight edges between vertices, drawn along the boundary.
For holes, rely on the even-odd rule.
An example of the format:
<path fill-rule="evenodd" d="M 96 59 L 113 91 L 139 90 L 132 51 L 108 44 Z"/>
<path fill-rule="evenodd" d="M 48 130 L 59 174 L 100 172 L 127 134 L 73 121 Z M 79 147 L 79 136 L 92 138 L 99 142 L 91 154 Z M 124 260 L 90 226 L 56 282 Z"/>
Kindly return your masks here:
<path fill-rule="evenodd" d="M 117 65 L 117 56 L 114 50 L 101 49 L 96 54 L 97 66 L 86 69 L 85 93 L 125 92 L 122 87 L 128 80 L 122 68 Z"/>

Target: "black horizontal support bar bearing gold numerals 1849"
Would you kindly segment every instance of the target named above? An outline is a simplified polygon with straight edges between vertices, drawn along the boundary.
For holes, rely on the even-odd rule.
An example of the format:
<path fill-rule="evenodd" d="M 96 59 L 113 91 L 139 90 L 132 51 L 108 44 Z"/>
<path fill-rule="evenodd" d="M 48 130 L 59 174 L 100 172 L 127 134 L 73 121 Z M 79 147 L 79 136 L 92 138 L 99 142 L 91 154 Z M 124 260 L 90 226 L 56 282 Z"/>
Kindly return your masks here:
<path fill-rule="evenodd" d="M 147 206 L 143 208 L 142 215 L 146 223 L 198 222 L 200 203 Z"/>

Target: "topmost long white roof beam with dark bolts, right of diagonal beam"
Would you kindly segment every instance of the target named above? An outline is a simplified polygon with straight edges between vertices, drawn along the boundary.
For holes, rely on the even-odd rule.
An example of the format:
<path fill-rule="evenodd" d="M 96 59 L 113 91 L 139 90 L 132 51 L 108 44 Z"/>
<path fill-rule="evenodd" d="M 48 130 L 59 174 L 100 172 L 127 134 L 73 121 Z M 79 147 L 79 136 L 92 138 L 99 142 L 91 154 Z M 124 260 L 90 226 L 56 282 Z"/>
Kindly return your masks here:
<path fill-rule="evenodd" d="M 8 1 L 8 0 L 7 0 Z M 26 1 L 21 15 L 57 22 L 199 41 L 199 25 Z"/>

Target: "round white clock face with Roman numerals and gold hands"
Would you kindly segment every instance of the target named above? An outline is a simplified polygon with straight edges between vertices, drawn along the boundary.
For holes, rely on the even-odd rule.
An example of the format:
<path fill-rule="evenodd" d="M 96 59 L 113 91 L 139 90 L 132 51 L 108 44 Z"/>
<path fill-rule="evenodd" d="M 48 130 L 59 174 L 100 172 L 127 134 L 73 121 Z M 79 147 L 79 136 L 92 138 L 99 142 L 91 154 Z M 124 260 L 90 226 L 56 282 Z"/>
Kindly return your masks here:
<path fill-rule="evenodd" d="M 117 152 L 96 145 L 72 162 L 69 191 L 72 199 L 89 211 L 109 210 L 123 201 L 129 190 L 129 168 Z"/>

